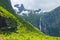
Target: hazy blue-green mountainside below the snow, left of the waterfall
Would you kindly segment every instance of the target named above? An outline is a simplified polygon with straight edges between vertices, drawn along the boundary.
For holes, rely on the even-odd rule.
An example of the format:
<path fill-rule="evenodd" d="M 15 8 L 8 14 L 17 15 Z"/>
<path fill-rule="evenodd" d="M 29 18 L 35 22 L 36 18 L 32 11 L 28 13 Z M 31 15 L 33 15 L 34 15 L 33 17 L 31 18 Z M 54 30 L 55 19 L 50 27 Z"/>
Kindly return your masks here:
<path fill-rule="evenodd" d="M 40 13 L 22 13 L 22 15 L 20 15 L 22 18 L 24 18 L 25 20 L 27 20 L 28 22 L 30 22 L 31 24 L 33 24 L 34 26 L 36 26 L 37 28 L 39 28 L 40 25 L 40 17 L 43 14 Z M 40 28 L 39 28 L 40 29 Z"/>

